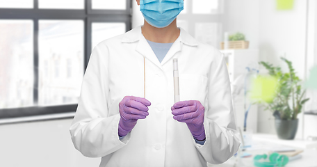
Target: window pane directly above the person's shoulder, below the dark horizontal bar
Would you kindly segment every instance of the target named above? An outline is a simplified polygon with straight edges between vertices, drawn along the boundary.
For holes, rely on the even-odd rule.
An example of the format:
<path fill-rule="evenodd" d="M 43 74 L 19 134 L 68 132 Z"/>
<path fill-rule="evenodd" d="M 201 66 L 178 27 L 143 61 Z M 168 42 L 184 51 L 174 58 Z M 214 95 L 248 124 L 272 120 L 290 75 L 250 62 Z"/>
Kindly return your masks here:
<path fill-rule="evenodd" d="M 125 23 L 92 23 L 92 49 L 99 42 L 125 32 Z"/>

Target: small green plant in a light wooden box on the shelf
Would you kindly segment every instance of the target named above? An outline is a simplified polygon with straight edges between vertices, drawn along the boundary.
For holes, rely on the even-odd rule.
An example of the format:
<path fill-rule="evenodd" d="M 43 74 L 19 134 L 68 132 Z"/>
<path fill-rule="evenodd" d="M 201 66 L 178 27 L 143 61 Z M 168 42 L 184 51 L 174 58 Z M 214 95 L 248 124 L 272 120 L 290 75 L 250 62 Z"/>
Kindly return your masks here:
<path fill-rule="evenodd" d="M 229 35 L 228 49 L 247 49 L 249 47 L 249 41 L 245 41 L 245 35 L 243 33 L 235 33 Z M 225 42 L 221 42 L 221 49 L 225 49 Z"/>

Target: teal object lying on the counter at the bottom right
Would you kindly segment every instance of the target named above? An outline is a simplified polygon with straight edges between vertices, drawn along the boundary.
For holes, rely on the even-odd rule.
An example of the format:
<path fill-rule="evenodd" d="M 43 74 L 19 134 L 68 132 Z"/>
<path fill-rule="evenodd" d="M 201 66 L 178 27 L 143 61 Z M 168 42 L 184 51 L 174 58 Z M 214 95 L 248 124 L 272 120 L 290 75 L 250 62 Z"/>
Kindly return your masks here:
<path fill-rule="evenodd" d="M 258 167 L 282 167 L 285 166 L 288 163 L 288 157 L 286 155 L 278 154 L 277 152 L 274 152 L 273 154 L 270 154 L 270 157 L 268 158 L 269 161 L 261 161 L 261 159 L 267 159 L 267 154 L 261 154 L 254 157 L 254 166 Z"/>

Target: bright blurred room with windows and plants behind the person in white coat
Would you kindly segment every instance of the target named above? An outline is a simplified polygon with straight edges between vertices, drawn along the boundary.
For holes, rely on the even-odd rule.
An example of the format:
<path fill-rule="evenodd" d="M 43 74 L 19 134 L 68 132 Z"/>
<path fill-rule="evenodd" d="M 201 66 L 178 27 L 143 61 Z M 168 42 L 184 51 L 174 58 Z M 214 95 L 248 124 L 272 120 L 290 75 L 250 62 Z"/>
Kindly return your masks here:
<path fill-rule="evenodd" d="M 68 130 L 83 74 L 99 42 L 142 24 L 135 0 L 0 0 L 0 166 L 99 166 Z M 317 166 L 317 0 L 186 0 L 177 25 L 227 61 L 243 144 L 220 166 Z"/>

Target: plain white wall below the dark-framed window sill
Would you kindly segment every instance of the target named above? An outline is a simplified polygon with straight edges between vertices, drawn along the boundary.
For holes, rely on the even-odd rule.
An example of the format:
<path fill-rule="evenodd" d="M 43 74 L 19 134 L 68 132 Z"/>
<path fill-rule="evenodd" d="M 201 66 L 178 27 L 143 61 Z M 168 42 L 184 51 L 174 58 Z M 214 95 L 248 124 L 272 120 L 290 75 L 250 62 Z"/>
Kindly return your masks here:
<path fill-rule="evenodd" d="M 0 166 L 86 167 L 100 159 L 84 157 L 70 138 L 72 119 L 0 125 Z"/>

